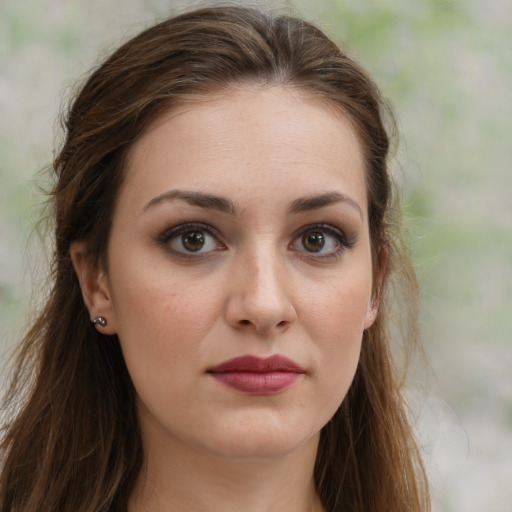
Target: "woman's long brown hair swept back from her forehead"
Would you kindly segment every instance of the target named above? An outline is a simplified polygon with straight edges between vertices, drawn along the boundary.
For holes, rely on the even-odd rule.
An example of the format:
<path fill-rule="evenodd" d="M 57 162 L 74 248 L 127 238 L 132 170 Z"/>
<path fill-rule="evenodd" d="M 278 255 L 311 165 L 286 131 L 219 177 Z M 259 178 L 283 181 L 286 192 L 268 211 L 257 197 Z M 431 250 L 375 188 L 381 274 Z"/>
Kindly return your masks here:
<path fill-rule="evenodd" d="M 46 306 L 19 349 L 7 393 L 0 509 L 124 511 L 141 468 L 134 389 L 117 336 L 91 325 L 70 257 L 85 242 L 105 262 L 128 149 L 165 109 L 244 82 L 292 86 L 351 120 L 365 152 L 374 267 L 387 271 L 375 296 L 349 393 L 323 428 L 315 466 L 329 512 L 429 510 L 421 458 L 390 351 L 388 311 L 399 287 L 417 343 L 417 285 L 401 243 L 387 169 L 389 138 L 377 87 L 320 29 L 245 7 L 203 8 L 128 41 L 96 69 L 65 120 L 54 162 L 55 253 Z"/>

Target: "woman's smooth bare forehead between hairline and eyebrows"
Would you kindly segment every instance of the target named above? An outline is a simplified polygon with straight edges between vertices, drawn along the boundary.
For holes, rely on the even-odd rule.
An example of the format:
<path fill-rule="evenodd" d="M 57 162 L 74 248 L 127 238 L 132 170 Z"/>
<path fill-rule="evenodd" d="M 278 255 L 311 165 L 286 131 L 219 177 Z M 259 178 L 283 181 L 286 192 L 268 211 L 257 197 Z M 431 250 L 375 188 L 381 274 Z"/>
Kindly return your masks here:
<path fill-rule="evenodd" d="M 291 193 L 292 184 L 298 194 L 342 187 L 366 209 L 363 155 L 352 123 L 296 88 L 237 86 L 160 115 L 129 151 L 124 189 L 131 189 L 131 200 L 191 187 L 236 191 L 243 200 L 283 186 Z"/>

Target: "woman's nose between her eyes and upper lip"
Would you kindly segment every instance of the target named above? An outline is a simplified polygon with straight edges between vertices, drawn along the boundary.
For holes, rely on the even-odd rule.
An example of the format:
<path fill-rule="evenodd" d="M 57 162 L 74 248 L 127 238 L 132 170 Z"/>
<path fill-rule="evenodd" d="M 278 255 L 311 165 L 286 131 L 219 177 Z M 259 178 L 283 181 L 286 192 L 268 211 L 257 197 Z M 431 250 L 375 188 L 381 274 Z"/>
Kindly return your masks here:
<path fill-rule="evenodd" d="M 236 329 L 271 336 L 297 318 L 289 279 L 274 251 L 240 255 L 234 262 L 226 303 L 226 320 Z"/>

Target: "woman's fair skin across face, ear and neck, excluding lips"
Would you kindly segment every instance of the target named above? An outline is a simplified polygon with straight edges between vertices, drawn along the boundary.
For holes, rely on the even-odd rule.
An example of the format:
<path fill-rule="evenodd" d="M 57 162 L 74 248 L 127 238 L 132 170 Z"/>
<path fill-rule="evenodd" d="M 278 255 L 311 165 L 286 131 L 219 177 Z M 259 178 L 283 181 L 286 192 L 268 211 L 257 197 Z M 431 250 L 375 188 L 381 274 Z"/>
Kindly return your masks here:
<path fill-rule="evenodd" d="M 297 206 L 312 196 L 326 204 Z M 190 222 L 205 237 L 199 252 L 169 233 Z M 314 252 L 302 235 L 318 224 Z M 377 314 L 364 163 L 347 119 L 278 86 L 174 108 L 131 148 L 107 268 L 80 244 L 72 254 L 91 318 L 118 334 L 138 393 L 145 461 L 130 512 L 323 510 L 319 432 Z M 304 373 L 271 395 L 208 373 L 247 354 L 280 354 Z"/>

